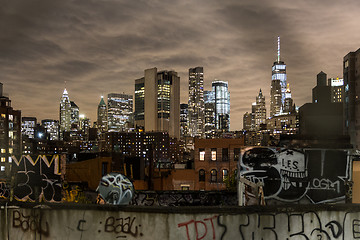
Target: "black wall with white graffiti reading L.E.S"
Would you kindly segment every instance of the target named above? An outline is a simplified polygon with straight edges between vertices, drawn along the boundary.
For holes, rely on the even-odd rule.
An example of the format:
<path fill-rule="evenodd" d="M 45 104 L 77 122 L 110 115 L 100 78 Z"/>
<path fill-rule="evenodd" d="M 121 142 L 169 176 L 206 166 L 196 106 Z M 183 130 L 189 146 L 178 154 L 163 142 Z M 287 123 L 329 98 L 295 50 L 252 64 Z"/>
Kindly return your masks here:
<path fill-rule="evenodd" d="M 243 149 L 239 169 L 264 185 L 265 199 L 282 202 L 344 202 L 351 180 L 347 150 L 251 147 Z"/>

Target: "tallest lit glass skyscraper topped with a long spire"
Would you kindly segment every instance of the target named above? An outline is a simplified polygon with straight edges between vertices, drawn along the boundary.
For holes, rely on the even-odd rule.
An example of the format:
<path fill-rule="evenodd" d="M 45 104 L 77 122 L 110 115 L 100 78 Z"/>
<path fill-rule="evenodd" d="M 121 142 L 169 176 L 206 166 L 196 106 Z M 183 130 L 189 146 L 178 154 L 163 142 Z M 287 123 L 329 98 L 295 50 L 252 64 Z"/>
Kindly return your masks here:
<path fill-rule="evenodd" d="M 282 114 L 286 98 L 286 64 L 280 61 L 280 37 L 278 37 L 277 60 L 272 66 L 270 90 L 270 117 Z"/>

